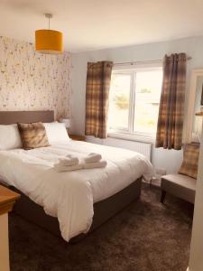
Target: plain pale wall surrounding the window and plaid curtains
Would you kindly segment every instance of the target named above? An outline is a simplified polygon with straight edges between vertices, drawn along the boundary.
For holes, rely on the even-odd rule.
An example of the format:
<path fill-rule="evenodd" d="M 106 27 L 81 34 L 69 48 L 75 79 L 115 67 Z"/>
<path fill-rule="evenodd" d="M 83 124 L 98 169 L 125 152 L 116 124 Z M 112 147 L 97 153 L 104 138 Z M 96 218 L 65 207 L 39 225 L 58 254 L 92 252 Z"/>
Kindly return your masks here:
<path fill-rule="evenodd" d="M 192 59 L 188 62 L 187 95 L 189 96 L 189 79 L 191 70 L 203 67 L 203 37 L 192 37 L 171 42 L 158 42 L 134 45 L 100 51 L 86 51 L 72 54 L 72 97 L 71 116 L 72 132 L 84 135 L 86 107 L 86 75 L 88 61 L 151 61 L 162 59 L 167 53 L 186 52 Z M 187 108 L 187 107 L 186 107 Z M 185 126 L 187 130 L 187 126 Z M 105 143 L 105 141 L 104 141 Z M 181 151 L 152 149 L 152 164 L 167 169 L 167 173 L 175 173 L 180 167 Z"/>

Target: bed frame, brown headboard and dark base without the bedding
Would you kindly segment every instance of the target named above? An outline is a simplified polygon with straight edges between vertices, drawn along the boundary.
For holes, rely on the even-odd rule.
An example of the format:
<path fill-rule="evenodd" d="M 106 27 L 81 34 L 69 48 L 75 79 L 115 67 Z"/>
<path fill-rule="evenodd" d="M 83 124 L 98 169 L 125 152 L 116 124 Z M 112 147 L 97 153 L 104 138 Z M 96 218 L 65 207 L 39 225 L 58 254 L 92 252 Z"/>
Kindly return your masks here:
<path fill-rule="evenodd" d="M 54 120 L 53 111 L 0 111 L 0 125 L 9 125 L 18 122 L 52 122 Z M 5 182 L 2 182 L 5 185 Z M 88 232 L 97 229 L 106 220 L 113 217 L 117 212 L 123 210 L 132 201 L 135 201 L 141 192 L 142 178 L 135 180 L 124 190 L 115 193 L 115 195 L 104 201 L 98 201 L 94 204 L 94 217 L 91 228 Z M 9 187 L 15 192 L 21 194 L 21 198 L 15 203 L 14 211 L 26 220 L 32 221 L 34 224 L 49 230 L 51 233 L 60 236 L 59 221 L 47 215 L 42 206 L 30 200 L 22 192 L 14 187 Z M 85 234 L 79 234 L 78 237 L 72 238 L 72 242 L 76 242 L 84 238 Z"/>

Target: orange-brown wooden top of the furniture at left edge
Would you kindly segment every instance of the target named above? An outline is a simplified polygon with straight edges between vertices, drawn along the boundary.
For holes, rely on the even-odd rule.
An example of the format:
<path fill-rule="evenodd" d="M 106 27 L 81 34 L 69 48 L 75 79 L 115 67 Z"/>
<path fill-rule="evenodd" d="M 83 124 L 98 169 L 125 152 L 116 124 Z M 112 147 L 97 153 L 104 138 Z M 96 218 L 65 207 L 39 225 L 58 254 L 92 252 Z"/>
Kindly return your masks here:
<path fill-rule="evenodd" d="M 14 206 L 14 201 L 18 198 L 20 198 L 18 193 L 0 185 L 0 215 L 11 211 Z"/>

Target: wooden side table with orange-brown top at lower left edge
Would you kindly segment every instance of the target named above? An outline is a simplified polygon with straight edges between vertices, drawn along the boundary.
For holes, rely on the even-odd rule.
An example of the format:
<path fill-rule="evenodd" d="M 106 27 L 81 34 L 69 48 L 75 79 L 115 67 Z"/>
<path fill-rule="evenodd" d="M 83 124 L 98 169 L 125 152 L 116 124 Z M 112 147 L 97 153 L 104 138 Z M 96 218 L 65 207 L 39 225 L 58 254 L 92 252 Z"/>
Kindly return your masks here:
<path fill-rule="evenodd" d="M 0 185 L 0 270 L 9 271 L 8 212 L 20 195 Z"/>

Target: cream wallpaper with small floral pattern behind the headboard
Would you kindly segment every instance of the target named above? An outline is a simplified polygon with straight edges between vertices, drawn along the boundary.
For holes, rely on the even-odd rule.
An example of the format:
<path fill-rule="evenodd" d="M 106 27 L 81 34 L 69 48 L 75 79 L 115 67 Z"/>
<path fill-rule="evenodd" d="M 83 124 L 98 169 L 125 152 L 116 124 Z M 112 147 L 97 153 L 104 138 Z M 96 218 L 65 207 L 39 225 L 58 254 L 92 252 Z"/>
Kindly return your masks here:
<path fill-rule="evenodd" d="M 54 110 L 69 117 L 71 60 L 45 55 L 34 45 L 0 36 L 0 110 Z"/>

